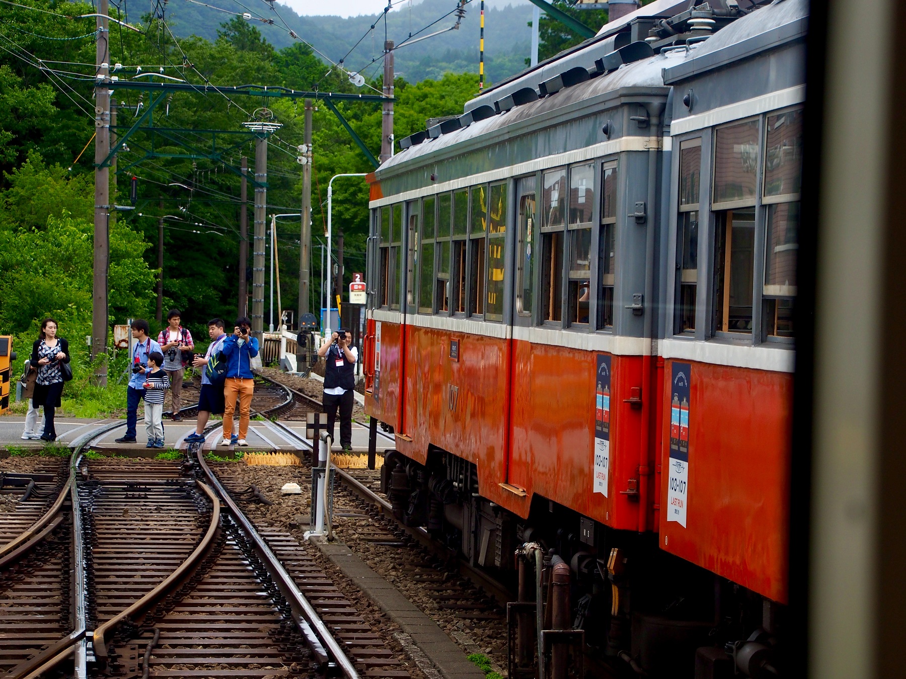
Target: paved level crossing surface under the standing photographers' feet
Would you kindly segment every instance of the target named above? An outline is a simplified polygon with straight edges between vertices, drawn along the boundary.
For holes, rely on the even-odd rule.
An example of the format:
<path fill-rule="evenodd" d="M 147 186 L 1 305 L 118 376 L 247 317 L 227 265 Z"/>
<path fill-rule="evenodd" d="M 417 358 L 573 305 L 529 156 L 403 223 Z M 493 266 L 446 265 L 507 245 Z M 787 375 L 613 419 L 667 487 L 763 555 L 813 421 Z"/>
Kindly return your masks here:
<path fill-rule="evenodd" d="M 82 435 L 88 434 L 92 429 L 96 429 L 100 426 L 110 425 L 115 420 L 112 419 L 79 419 L 72 417 L 58 417 L 56 419 L 56 431 L 57 431 L 57 444 L 58 445 L 69 445 L 76 438 L 79 438 Z M 139 419 L 137 429 L 135 444 L 118 444 L 114 439 L 119 438 L 125 433 L 126 429 L 126 420 L 116 420 L 121 423 L 121 426 L 113 429 L 111 432 L 103 435 L 100 441 L 96 441 L 92 448 L 98 450 L 101 453 L 106 454 L 123 454 L 128 456 L 146 456 L 151 453 L 151 450 L 145 447 L 146 442 L 148 441 L 147 435 L 145 435 L 145 423 L 143 419 Z M 215 420 L 209 420 L 208 425 L 214 424 Z M 0 417 L 0 450 L 7 450 L 9 446 L 23 447 L 23 448 L 41 448 L 43 447 L 44 442 L 40 439 L 25 441 L 21 438 L 22 431 L 25 424 L 24 416 L 3 416 Z M 305 423 L 295 420 L 288 420 L 281 422 L 284 426 L 289 427 L 294 432 L 299 435 L 305 435 Z M 39 424 L 39 432 L 43 425 Z M 169 449 L 184 449 L 186 443 L 183 439 L 190 433 L 195 431 L 196 420 L 188 417 L 184 417 L 181 422 L 173 422 L 169 419 L 164 419 L 164 448 L 163 450 Z M 239 421 L 235 420 L 233 423 L 233 432 L 236 434 L 239 428 Z M 222 440 L 221 437 L 222 430 L 218 426 L 217 429 L 207 435 L 207 441 L 205 442 L 205 449 L 209 449 L 215 454 L 220 454 L 221 456 L 228 457 L 230 452 L 234 453 L 242 451 L 256 451 L 256 452 L 268 452 L 268 451 L 293 451 L 296 449 L 296 445 L 292 441 L 291 437 L 285 436 L 277 427 L 273 426 L 269 421 L 266 420 L 252 420 L 248 427 L 248 436 L 246 441 L 248 442 L 247 447 L 238 447 L 238 446 L 226 446 L 219 445 Z M 339 435 L 340 435 L 340 425 L 339 423 L 334 426 L 334 435 L 338 437 L 338 440 L 333 445 L 333 450 L 340 450 L 339 444 Z M 378 431 L 378 451 L 383 451 L 385 448 L 393 447 L 393 438 L 389 435 L 384 434 L 380 430 Z M 363 426 L 358 422 L 352 423 L 352 450 L 356 453 L 367 453 L 368 452 L 368 427 Z M 219 452 L 217 452 L 219 451 Z M 160 450 L 154 451 L 155 454 L 159 453 Z"/>

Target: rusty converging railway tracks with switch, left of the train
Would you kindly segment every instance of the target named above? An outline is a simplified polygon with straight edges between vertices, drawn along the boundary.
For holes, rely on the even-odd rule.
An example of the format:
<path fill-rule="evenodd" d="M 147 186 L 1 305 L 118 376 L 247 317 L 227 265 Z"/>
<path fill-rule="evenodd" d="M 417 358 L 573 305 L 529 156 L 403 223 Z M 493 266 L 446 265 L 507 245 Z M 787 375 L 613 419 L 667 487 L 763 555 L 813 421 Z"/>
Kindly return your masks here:
<path fill-rule="evenodd" d="M 53 504 L 0 547 L 4 679 L 410 676 L 292 536 L 246 518 L 200 446 L 187 464 L 85 460 L 115 426 L 82 437 Z"/>

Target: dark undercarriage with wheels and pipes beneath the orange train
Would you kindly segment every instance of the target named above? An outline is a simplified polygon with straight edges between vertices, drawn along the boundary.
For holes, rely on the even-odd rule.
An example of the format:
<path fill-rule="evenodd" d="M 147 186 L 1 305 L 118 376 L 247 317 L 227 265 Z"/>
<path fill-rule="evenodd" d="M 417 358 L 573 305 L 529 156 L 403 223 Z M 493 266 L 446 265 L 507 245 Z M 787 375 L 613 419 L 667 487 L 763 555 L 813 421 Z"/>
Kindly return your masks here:
<path fill-rule="evenodd" d="M 513 593 L 510 679 L 784 675 L 785 607 L 660 550 L 657 533 L 537 495 L 522 519 L 482 496 L 475 464 L 433 446 L 424 465 L 386 451 L 381 491 L 400 521 Z"/>

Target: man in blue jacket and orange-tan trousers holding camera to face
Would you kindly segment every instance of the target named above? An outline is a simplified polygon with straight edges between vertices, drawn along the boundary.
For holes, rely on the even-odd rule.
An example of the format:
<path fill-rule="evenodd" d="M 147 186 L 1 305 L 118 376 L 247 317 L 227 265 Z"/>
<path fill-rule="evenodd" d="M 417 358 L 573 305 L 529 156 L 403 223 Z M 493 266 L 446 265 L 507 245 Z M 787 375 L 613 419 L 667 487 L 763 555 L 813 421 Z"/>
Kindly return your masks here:
<path fill-rule="evenodd" d="M 229 335 L 220 349 L 226 360 L 224 380 L 224 440 L 220 445 L 248 445 L 248 420 L 252 410 L 252 395 L 255 393 L 255 375 L 251 359 L 258 355 L 258 340 L 248 329 L 252 321 L 245 316 L 236 319 L 233 334 Z M 233 435 L 233 413 L 236 412 L 236 397 L 239 398 L 239 435 Z"/>

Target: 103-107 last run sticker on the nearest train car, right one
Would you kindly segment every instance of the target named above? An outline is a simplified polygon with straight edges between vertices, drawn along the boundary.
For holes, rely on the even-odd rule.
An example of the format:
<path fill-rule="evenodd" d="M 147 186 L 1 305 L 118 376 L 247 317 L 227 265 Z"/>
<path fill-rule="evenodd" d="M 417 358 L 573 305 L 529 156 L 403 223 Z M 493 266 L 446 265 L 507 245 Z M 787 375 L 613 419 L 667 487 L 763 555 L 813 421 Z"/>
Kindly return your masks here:
<path fill-rule="evenodd" d="M 686 528 L 689 506 L 689 385 L 692 366 L 673 361 L 670 380 L 670 472 L 667 486 L 667 521 Z"/>

